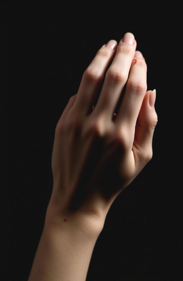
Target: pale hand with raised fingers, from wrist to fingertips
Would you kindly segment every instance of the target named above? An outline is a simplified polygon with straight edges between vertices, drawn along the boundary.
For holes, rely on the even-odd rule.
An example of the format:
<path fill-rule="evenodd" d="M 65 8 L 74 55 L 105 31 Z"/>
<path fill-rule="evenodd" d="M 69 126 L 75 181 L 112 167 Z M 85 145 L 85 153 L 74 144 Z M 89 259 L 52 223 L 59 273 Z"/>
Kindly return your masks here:
<path fill-rule="evenodd" d="M 136 45 L 132 33 L 126 33 L 119 45 L 114 40 L 103 45 L 57 123 L 49 209 L 54 206 L 63 221 L 74 214 L 104 221 L 114 199 L 152 158 L 152 137 L 158 120 L 155 108 L 149 105 L 152 91 L 147 91 L 147 65 Z M 151 104 L 155 97 L 150 97 Z"/>

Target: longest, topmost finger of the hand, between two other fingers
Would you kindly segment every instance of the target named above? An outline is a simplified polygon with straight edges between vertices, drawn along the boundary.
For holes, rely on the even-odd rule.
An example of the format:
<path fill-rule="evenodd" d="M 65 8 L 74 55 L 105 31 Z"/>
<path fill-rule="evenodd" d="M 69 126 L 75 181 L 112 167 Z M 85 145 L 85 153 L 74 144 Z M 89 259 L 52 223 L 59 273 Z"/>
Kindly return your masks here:
<path fill-rule="evenodd" d="M 93 114 L 105 112 L 112 119 L 136 50 L 136 40 L 130 32 L 120 40 L 116 55 L 109 67 Z"/>

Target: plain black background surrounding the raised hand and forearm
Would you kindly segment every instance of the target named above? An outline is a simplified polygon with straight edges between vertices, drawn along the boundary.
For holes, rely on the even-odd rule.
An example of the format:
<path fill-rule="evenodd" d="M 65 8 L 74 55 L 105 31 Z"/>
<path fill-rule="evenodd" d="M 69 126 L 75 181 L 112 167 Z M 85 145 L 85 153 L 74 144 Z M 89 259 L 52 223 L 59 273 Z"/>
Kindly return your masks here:
<path fill-rule="evenodd" d="M 63 109 L 98 49 L 110 39 L 119 43 L 126 32 L 134 34 L 146 59 L 148 90 L 156 89 L 153 158 L 112 204 L 87 281 L 183 276 L 182 15 L 174 5 L 162 10 L 148 5 L 3 6 L 2 135 L 8 171 L 2 188 L 3 280 L 27 280 L 31 270 L 52 190 L 51 154 Z"/>

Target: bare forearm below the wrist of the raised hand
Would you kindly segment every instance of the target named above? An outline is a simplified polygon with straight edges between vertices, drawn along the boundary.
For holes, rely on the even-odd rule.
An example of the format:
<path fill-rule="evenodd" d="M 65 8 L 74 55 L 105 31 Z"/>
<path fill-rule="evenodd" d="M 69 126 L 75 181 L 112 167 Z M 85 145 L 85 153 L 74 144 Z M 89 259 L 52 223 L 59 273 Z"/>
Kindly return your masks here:
<path fill-rule="evenodd" d="M 100 232 L 73 218 L 45 223 L 28 281 L 84 281 Z"/>

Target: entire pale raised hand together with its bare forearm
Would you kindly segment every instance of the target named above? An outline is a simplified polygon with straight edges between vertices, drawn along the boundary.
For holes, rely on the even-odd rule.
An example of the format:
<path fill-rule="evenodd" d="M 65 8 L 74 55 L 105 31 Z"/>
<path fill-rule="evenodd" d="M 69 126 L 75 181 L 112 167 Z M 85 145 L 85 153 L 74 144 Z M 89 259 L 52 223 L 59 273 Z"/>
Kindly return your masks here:
<path fill-rule="evenodd" d="M 57 123 L 53 190 L 29 281 L 86 280 L 110 206 L 152 158 L 156 91 L 147 91 L 147 65 L 136 45 L 129 32 L 103 45 Z"/>

